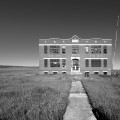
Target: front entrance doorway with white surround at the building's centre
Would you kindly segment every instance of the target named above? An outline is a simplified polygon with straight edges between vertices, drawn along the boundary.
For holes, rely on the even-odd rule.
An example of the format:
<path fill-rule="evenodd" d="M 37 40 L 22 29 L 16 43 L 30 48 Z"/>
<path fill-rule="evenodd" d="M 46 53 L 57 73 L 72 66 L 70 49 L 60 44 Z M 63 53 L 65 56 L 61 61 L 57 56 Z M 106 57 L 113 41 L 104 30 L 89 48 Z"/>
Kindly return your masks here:
<path fill-rule="evenodd" d="M 80 58 L 71 58 L 72 60 L 72 66 L 71 66 L 71 72 L 80 72 Z"/>

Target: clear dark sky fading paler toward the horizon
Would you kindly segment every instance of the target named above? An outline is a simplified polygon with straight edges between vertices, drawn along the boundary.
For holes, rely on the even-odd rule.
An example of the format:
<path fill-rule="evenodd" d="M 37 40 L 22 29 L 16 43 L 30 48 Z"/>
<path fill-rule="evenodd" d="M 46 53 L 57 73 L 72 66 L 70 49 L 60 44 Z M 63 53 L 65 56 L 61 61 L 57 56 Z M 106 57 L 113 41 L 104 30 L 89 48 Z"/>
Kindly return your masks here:
<path fill-rule="evenodd" d="M 1 0 L 0 65 L 39 65 L 39 39 L 104 38 L 115 42 L 119 0 Z M 114 69 L 120 69 L 120 25 Z M 113 47 L 114 49 L 114 47 Z"/>

